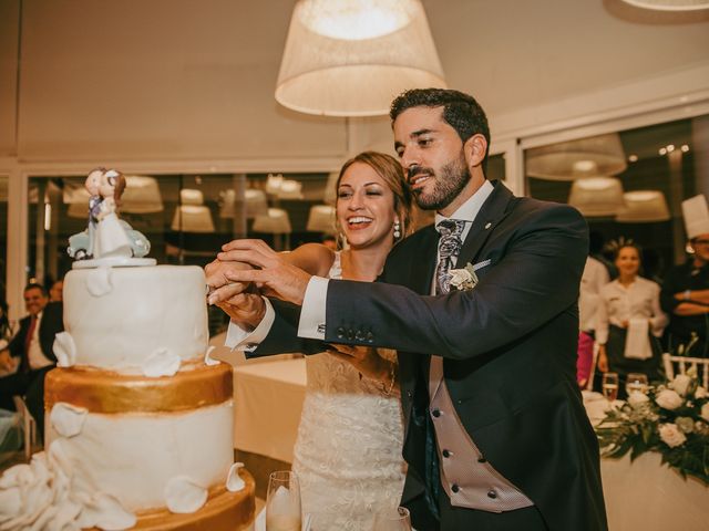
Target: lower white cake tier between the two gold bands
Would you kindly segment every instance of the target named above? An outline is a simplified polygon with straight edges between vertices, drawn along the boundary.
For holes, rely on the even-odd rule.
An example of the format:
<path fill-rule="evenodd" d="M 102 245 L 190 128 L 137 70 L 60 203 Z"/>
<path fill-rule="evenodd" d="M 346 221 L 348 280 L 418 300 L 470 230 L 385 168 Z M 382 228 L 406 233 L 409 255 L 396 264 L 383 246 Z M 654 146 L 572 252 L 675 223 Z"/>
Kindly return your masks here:
<path fill-rule="evenodd" d="M 225 485 L 233 418 L 232 400 L 187 413 L 85 413 L 78 433 L 62 437 L 50 414 L 47 436 L 49 445 L 61 444 L 82 490 L 113 496 L 135 512 L 167 507 L 169 486 L 181 478 L 205 490 Z"/>

